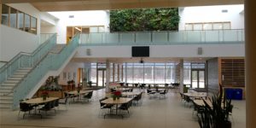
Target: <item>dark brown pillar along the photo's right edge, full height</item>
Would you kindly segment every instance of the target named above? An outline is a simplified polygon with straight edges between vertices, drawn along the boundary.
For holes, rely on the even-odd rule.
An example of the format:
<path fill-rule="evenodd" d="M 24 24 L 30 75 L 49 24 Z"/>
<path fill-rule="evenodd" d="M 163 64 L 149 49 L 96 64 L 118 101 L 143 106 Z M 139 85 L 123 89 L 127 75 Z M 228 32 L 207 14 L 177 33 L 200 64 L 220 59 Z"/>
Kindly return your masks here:
<path fill-rule="evenodd" d="M 245 1 L 247 128 L 256 127 L 256 1 Z"/>

